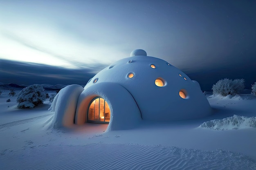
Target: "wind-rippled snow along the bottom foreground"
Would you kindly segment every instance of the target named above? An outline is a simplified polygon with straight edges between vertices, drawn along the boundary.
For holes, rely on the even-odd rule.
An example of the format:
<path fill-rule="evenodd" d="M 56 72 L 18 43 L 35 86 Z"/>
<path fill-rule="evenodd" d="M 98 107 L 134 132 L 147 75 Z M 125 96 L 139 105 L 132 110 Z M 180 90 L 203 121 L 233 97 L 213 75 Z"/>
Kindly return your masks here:
<path fill-rule="evenodd" d="M 255 170 L 256 167 L 253 159 L 238 152 L 138 144 L 46 145 L 1 155 L 0 168 L 5 170 Z"/>

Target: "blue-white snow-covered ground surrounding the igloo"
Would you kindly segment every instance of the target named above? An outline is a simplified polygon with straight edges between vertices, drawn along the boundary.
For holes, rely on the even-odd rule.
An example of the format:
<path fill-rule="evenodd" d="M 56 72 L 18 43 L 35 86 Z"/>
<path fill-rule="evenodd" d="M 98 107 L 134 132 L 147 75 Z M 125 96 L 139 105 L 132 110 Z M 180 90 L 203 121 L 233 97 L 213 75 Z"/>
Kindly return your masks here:
<path fill-rule="evenodd" d="M 233 115 L 255 117 L 256 97 L 250 94 L 208 95 L 213 108 L 209 117 L 143 121 L 136 129 L 104 132 L 107 124 L 45 129 L 54 114 L 48 111 L 49 101 L 36 108 L 17 109 L 16 97 L 2 91 L 0 169 L 256 169 L 256 128 L 199 127 Z"/>

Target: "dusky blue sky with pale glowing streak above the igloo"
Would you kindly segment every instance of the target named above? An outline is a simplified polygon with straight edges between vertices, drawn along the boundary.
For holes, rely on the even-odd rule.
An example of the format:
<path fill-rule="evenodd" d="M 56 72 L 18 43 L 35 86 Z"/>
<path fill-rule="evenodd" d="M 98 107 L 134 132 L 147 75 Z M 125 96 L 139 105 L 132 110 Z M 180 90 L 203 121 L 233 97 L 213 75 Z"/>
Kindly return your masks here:
<path fill-rule="evenodd" d="M 255 0 L 0 0 L 0 82 L 86 84 L 144 49 L 197 80 L 256 82 Z"/>

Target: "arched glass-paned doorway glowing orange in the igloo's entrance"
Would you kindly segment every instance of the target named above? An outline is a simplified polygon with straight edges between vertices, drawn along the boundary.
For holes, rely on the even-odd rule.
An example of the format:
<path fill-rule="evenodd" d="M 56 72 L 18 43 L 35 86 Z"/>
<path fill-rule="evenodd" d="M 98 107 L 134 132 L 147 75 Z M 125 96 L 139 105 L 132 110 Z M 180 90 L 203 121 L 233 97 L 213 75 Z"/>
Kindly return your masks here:
<path fill-rule="evenodd" d="M 108 124 L 110 121 L 110 108 L 101 97 L 95 97 L 89 104 L 87 120 L 92 123 Z"/>

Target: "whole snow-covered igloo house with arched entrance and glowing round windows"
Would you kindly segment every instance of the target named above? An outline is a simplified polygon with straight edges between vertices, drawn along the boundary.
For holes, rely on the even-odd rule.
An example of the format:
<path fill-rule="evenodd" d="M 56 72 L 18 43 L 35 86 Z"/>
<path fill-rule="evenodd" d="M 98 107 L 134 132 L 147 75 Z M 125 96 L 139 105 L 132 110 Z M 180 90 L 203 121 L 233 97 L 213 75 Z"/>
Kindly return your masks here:
<path fill-rule="evenodd" d="M 144 50 L 114 62 L 83 88 L 63 88 L 51 106 L 53 127 L 109 124 L 106 131 L 131 129 L 141 121 L 196 119 L 211 114 L 198 82 Z"/>

